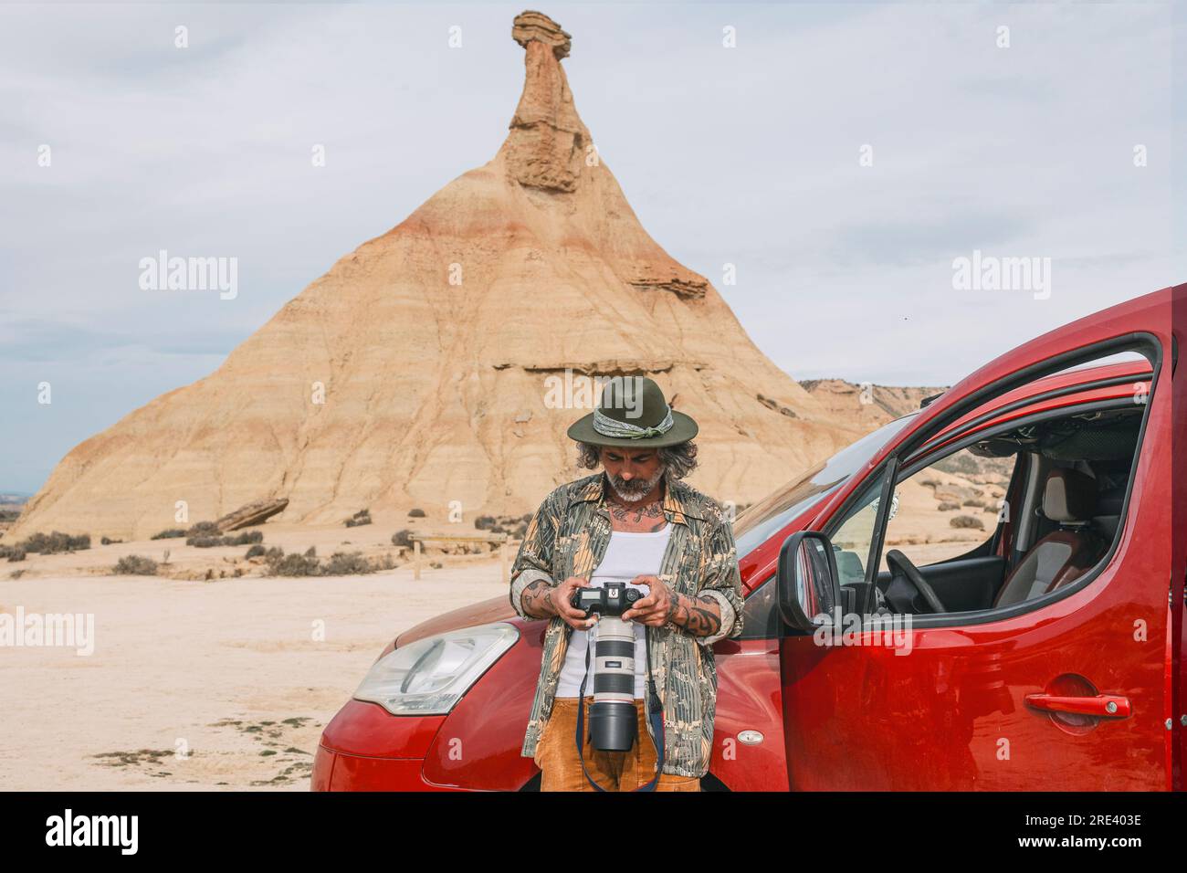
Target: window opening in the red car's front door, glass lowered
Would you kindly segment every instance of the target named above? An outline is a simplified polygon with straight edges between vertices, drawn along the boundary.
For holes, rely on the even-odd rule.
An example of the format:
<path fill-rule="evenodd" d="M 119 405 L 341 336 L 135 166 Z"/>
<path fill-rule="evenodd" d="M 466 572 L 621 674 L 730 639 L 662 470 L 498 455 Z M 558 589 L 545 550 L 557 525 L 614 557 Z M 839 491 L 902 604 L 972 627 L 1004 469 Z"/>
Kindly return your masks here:
<path fill-rule="evenodd" d="M 1096 378 L 1103 371 L 1084 372 Z M 1149 411 L 1148 382 L 1118 384 L 1126 390 L 1100 391 L 1078 404 L 1035 404 L 989 428 L 975 417 L 963 430 L 951 429 L 946 449 L 908 460 L 896 474 L 890 512 L 874 519 L 884 530 L 870 530 L 874 513 L 858 505 L 832 534 L 834 546 L 861 553 L 871 540 L 881 542 L 880 584 L 895 612 L 1029 608 L 1060 589 L 1087 584 L 1121 542 Z M 1048 387 L 1036 379 L 998 397 L 1026 400 L 1028 392 Z M 1077 387 L 1068 384 L 1060 399 L 1071 400 Z M 1027 479 L 1011 507 L 1003 498 L 1020 456 L 1027 458 Z M 871 491 L 863 499 L 872 504 L 875 496 Z M 991 555 L 999 518 L 1010 521 L 1011 548 Z M 890 550 L 901 553 L 894 568 L 886 561 Z M 912 572 L 932 589 L 927 595 Z M 942 608 L 933 608 L 937 600 Z"/>

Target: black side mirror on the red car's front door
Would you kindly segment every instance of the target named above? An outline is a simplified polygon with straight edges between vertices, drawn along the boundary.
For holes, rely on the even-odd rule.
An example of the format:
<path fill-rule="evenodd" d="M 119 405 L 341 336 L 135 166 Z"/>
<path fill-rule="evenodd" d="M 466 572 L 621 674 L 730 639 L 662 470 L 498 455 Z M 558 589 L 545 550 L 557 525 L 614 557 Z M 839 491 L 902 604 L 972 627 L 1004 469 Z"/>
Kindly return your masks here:
<path fill-rule="evenodd" d="M 812 633 L 840 603 L 837 557 L 824 533 L 802 531 L 779 551 L 779 613 L 783 624 Z"/>

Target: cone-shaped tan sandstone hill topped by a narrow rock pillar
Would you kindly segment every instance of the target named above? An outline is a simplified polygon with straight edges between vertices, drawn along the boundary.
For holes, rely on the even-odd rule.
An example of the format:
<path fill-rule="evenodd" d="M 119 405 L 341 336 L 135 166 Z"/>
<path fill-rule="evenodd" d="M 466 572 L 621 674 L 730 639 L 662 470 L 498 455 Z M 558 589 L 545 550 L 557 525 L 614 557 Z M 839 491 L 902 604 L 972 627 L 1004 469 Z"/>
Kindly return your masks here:
<path fill-rule="evenodd" d="M 737 504 L 868 430 L 775 367 L 642 228 L 577 114 L 571 37 L 538 12 L 512 36 L 523 93 L 490 162 L 338 260 L 216 372 L 75 447 L 6 540 L 150 536 L 182 500 L 193 521 L 280 500 L 275 520 L 309 524 L 531 512 L 584 474 L 565 429 L 586 410 L 547 401 L 566 371 L 655 378 L 700 424 L 692 483 Z"/>

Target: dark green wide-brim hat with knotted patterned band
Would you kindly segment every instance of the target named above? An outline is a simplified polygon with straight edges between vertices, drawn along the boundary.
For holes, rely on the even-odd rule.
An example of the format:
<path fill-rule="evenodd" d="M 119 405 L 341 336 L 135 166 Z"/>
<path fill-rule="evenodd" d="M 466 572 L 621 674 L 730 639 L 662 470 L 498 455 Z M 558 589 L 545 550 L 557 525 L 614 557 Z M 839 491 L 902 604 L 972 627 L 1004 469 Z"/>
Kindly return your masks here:
<path fill-rule="evenodd" d="M 571 439 L 590 445 L 662 448 L 697 436 L 697 423 L 677 412 L 647 377 L 608 379 L 602 397 L 588 416 L 569 428 Z"/>

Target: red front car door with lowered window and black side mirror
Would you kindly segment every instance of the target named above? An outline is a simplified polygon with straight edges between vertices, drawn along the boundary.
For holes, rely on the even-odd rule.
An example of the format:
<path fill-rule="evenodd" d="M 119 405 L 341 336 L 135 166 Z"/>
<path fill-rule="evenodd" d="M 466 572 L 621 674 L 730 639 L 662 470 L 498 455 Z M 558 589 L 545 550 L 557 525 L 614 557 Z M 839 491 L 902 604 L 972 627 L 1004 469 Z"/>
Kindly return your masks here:
<path fill-rule="evenodd" d="M 983 367 L 838 492 L 813 525 L 817 533 L 787 539 L 779 601 L 789 625 L 780 659 L 792 790 L 1174 787 L 1185 749 L 1173 713 L 1183 692 L 1173 671 L 1173 650 L 1183 641 L 1183 567 L 1182 532 L 1170 530 L 1172 400 L 1176 391 L 1182 400 L 1183 378 L 1173 381 L 1172 301 L 1187 305 L 1187 286 L 1080 320 Z M 937 589 L 903 557 L 890 564 L 921 596 L 900 596 L 891 608 L 878 571 L 895 557 L 883 540 L 903 477 L 929 453 L 942 454 L 937 447 L 959 445 L 988 423 L 1010 428 L 1011 438 L 1028 434 L 1030 419 L 1010 422 L 1011 410 L 1021 416 L 1023 406 L 1033 411 L 1047 400 L 1054 407 L 1069 392 L 1027 396 L 1027 386 L 1125 352 L 1145 358 L 1149 374 L 1128 399 L 1118 398 L 1118 407 L 1137 407 L 1140 428 L 1107 548 L 1077 574 L 1062 572 L 1071 561 L 1065 552 L 1077 552 L 1077 525 L 1085 524 L 1077 518 L 1077 489 L 1094 487 L 1093 469 L 1074 455 L 1048 457 L 1066 472 L 1046 476 L 1058 480 L 1050 493 L 1046 481 L 1034 483 L 1023 511 L 1042 508 L 1040 521 L 1052 531 L 1036 531 L 1016 555 L 997 550 L 1009 555 L 1008 565 L 988 603 L 966 599 L 947 608 L 942 595 L 933 602 L 922 594 Z M 1026 401 L 1015 404 L 1018 396 Z M 1043 436 L 1041 428 L 1035 434 Z M 1066 550 L 1052 548 L 1061 542 Z M 910 551 L 904 545 L 897 553 Z M 967 590 L 985 586 L 995 559 L 994 550 L 969 558 Z M 944 576 L 950 601 L 961 588 L 960 567 L 954 562 Z M 889 616 L 884 624 L 875 624 L 875 609 Z"/>

